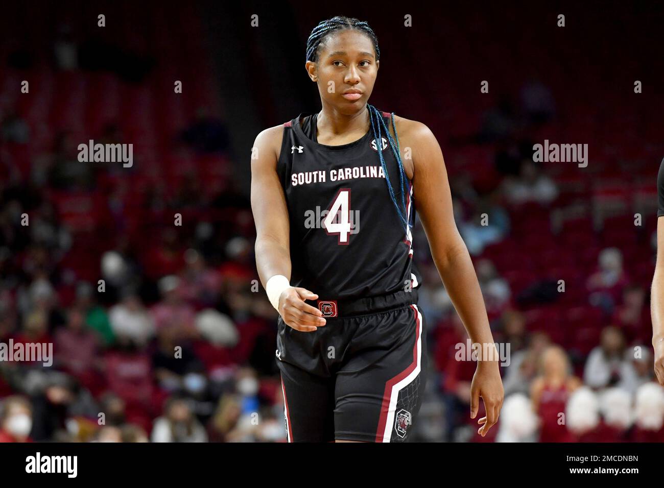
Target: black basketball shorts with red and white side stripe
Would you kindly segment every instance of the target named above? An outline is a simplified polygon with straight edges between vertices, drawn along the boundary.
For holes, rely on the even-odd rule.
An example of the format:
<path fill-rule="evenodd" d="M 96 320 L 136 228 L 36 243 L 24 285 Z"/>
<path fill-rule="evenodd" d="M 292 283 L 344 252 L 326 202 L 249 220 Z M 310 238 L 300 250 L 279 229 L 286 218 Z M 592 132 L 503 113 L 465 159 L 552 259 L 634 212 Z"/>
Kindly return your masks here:
<path fill-rule="evenodd" d="M 422 404 L 426 330 L 417 289 L 352 301 L 309 301 L 326 324 L 278 319 L 288 442 L 405 442 Z"/>

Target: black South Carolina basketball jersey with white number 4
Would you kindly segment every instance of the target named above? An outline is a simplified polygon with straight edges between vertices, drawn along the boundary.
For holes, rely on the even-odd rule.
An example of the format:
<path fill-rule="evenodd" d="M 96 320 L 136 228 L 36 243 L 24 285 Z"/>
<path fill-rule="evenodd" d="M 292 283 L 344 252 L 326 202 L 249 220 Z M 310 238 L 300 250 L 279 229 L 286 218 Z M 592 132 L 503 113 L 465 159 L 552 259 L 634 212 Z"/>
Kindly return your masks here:
<path fill-rule="evenodd" d="M 390 127 L 390 114 L 381 114 Z M 412 261 L 412 235 L 390 198 L 371 125 L 357 141 L 323 145 L 317 142 L 316 118 L 303 113 L 284 123 L 277 163 L 290 218 L 291 285 L 331 299 L 418 288 L 422 279 Z M 381 135 L 390 183 L 401 204 L 398 163 L 384 127 Z M 412 184 L 406 177 L 404 193 L 413 223 Z"/>

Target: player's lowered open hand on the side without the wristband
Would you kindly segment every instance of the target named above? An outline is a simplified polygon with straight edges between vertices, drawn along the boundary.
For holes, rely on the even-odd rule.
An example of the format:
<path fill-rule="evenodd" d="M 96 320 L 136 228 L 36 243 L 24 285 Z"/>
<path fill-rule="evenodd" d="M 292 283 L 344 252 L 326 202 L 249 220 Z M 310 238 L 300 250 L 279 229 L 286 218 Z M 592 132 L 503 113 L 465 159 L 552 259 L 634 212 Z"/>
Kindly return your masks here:
<path fill-rule="evenodd" d="M 477 416 L 480 396 L 484 401 L 486 416 L 477 420 L 477 424 L 481 425 L 477 434 L 484 437 L 489 429 L 498 422 L 505 397 L 498 361 L 477 361 L 477 369 L 475 369 L 470 386 L 470 418 Z"/>

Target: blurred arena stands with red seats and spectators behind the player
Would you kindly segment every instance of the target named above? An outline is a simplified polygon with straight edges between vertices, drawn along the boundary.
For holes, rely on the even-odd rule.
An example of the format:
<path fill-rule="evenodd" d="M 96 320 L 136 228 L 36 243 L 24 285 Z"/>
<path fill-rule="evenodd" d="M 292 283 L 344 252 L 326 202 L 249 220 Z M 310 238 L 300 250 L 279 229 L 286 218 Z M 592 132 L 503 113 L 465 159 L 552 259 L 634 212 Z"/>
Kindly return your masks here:
<path fill-rule="evenodd" d="M 334 15 L 378 36 L 371 104 L 438 138 L 511 351 L 480 438 L 475 363 L 457 361 L 467 336 L 418 224 L 432 370 L 416 440 L 664 439 L 649 316 L 661 4 L 209 1 L 3 5 L 0 343 L 52 343 L 54 363 L 0 362 L 0 440 L 27 414 L 34 441 L 285 442 L 250 150 L 320 110 L 305 42 Z M 89 139 L 132 143 L 133 166 L 80 163 Z M 545 139 L 588 144 L 588 165 L 533 163 Z"/>

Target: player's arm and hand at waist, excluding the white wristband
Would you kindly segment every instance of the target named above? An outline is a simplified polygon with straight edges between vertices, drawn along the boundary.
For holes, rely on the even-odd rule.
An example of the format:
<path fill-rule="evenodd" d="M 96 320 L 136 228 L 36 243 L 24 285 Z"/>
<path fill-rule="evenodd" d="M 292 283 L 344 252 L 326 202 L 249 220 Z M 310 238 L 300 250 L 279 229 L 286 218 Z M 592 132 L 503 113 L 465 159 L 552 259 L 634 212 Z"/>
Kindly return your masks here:
<path fill-rule="evenodd" d="M 251 206 L 256 223 L 256 268 L 265 287 L 275 275 L 290 280 L 290 222 L 277 160 L 284 128 L 271 127 L 256 136 L 251 160 Z M 281 278 L 283 280 L 283 278 Z M 279 313 L 286 325 L 302 332 L 325 325 L 321 311 L 305 303 L 318 295 L 301 287 L 288 287 L 279 297 Z"/>

